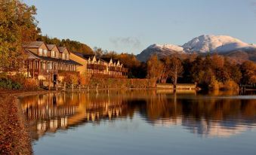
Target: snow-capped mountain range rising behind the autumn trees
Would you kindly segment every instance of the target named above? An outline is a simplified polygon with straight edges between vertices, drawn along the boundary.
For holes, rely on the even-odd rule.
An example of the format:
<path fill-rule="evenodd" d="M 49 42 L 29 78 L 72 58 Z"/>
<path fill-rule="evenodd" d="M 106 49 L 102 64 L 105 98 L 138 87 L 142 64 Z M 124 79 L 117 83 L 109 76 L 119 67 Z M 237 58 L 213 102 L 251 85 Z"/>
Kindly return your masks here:
<path fill-rule="evenodd" d="M 256 44 L 247 44 L 227 35 L 201 35 L 188 41 L 183 46 L 173 44 L 150 45 L 150 47 L 147 47 L 137 55 L 137 59 L 146 62 L 153 54 L 164 57 L 173 54 L 184 55 L 190 53 L 218 53 L 230 56 L 233 59 L 256 61 Z"/>

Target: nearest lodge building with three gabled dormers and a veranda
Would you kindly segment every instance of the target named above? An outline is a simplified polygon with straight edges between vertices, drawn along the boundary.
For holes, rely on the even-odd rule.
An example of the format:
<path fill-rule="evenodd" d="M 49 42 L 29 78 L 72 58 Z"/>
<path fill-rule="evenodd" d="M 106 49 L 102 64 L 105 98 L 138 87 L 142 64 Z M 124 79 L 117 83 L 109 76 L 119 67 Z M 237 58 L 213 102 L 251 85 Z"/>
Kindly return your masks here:
<path fill-rule="evenodd" d="M 79 74 L 76 68 L 81 64 L 69 59 L 70 52 L 66 47 L 32 41 L 23 44 L 23 48 L 27 54 L 24 68 L 29 78 L 57 81 L 57 78 L 63 78 L 64 72 Z"/>

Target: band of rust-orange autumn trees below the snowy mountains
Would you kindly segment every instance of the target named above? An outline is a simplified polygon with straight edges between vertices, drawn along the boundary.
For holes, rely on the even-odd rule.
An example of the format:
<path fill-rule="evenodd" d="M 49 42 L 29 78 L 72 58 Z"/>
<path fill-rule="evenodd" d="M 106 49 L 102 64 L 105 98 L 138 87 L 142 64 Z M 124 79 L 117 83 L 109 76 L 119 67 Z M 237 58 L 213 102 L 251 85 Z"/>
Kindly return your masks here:
<path fill-rule="evenodd" d="M 147 78 L 159 83 L 196 83 L 209 90 L 233 90 L 240 84 L 256 84 L 256 64 L 251 61 L 238 64 L 225 56 L 197 56 L 180 59 L 175 56 L 147 61 Z"/>

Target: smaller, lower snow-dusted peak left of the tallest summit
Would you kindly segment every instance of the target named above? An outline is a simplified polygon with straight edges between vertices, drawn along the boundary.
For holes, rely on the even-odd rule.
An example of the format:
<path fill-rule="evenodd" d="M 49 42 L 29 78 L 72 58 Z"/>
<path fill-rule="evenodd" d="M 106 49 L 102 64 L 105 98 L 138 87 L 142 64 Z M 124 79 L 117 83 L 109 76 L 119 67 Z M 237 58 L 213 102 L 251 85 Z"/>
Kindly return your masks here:
<path fill-rule="evenodd" d="M 185 54 L 184 48 L 173 44 L 152 44 L 147 49 L 137 55 L 137 59 L 146 62 L 150 56 L 156 54 L 159 57 L 170 56 L 173 54 Z"/>

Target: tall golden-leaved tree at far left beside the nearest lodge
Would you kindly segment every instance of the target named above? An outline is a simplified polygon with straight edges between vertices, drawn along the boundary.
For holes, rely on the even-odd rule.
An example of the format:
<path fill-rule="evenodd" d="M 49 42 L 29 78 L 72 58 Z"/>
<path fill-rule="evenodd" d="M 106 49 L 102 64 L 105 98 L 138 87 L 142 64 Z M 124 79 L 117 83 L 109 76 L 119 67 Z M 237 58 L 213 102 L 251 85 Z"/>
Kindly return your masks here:
<path fill-rule="evenodd" d="M 35 41 L 39 29 L 35 20 L 35 6 L 19 0 L 0 1 L 0 68 L 19 70 L 19 60 L 25 57 L 23 41 Z"/>

